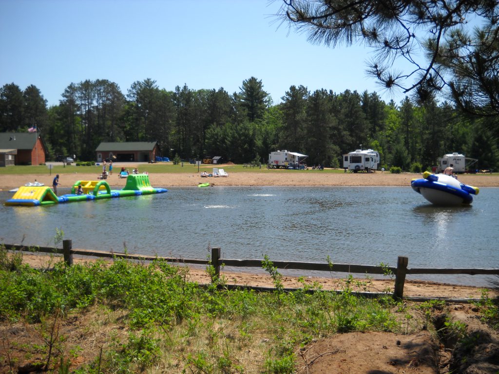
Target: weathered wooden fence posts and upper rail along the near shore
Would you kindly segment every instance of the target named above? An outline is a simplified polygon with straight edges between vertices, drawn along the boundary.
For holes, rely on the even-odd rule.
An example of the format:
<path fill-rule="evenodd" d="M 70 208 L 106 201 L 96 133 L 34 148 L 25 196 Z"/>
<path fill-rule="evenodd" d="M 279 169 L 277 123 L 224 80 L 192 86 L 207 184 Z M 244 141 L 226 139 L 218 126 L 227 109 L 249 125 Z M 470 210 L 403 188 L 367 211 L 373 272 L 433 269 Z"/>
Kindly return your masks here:
<path fill-rule="evenodd" d="M 73 264 L 73 255 L 107 257 L 107 258 L 126 258 L 139 261 L 154 261 L 156 259 L 174 263 L 213 265 L 215 276 L 220 276 L 221 266 L 234 267 L 262 267 L 263 260 L 259 259 L 233 259 L 222 258 L 221 248 L 213 247 L 210 260 L 199 260 L 189 258 L 173 258 L 160 256 L 147 256 L 139 254 L 129 254 L 123 252 L 105 252 L 89 249 L 76 249 L 72 247 L 72 240 L 62 241 L 62 248 L 26 246 L 19 244 L 3 244 L 5 249 L 12 251 L 30 251 L 41 253 L 62 254 L 66 264 Z M 334 271 L 340 273 L 358 273 L 358 274 L 395 274 L 395 285 L 393 297 L 401 299 L 404 296 L 404 283 L 408 274 L 469 274 L 469 275 L 499 275 L 499 269 L 440 269 L 440 268 L 408 268 L 409 259 L 404 256 L 397 258 L 397 266 L 371 266 L 371 265 L 351 265 L 351 264 L 331 264 L 322 262 L 298 262 L 298 261 L 272 261 L 272 265 L 278 269 L 297 269 L 297 270 L 315 270 L 315 271 Z"/>

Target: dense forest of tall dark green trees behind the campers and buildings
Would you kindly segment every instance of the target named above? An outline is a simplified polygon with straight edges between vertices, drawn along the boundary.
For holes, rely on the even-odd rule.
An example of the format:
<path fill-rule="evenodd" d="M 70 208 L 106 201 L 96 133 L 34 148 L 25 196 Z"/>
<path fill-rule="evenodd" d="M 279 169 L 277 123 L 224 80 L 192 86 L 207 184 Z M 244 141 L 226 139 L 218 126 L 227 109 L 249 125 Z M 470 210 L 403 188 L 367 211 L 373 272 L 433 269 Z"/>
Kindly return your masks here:
<path fill-rule="evenodd" d="M 0 88 L 0 132 L 26 132 L 36 125 L 48 160 L 75 154 L 95 159 L 100 142 L 158 143 L 161 156 L 183 160 L 222 156 L 234 163 L 266 163 L 288 150 L 308 155 L 309 165 L 342 167 L 342 154 L 371 148 L 381 166 L 427 170 L 445 154 L 478 159 L 497 170 L 499 150 L 487 119 L 463 117 L 449 102 L 405 97 L 385 103 L 376 92 L 290 86 L 274 104 L 255 77 L 240 92 L 224 88 L 175 91 L 153 79 L 134 82 L 124 94 L 108 80 L 69 84 L 58 105 L 47 108 L 42 92 L 15 83 Z"/>

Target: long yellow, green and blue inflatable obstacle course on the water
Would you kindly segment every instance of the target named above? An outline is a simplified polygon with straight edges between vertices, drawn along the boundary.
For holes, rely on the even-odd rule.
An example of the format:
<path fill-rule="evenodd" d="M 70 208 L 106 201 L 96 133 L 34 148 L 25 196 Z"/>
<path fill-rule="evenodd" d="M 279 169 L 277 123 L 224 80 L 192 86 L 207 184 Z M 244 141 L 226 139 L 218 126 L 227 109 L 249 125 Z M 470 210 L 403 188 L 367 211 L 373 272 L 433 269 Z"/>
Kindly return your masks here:
<path fill-rule="evenodd" d="M 81 185 L 82 193 L 77 193 Z M 145 174 L 129 175 L 123 189 L 111 189 L 106 181 L 77 181 L 71 187 L 71 193 L 57 196 L 47 186 L 22 186 L 5 205 L 39 206 L 64 202 L 98 200 L 112 197 L 137 196 L 167 192 L 166 188 L 151 187 L 149 176 Z"/>

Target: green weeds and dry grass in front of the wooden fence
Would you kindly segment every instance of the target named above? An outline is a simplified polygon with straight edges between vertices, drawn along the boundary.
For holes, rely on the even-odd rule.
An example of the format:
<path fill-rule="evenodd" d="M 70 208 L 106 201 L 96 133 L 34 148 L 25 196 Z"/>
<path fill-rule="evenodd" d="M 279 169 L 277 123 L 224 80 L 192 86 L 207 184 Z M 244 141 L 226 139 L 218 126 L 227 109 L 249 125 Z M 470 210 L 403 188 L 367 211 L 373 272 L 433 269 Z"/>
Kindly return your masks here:
<path fill-rule="evenodd" d="M 397 322 L 398 314 L 407 311 L 393 313 L 389 298 L 353 293 L 354 286 L 365 287 L 365 282 L 348 277 L 343 291 L 336 293 L 302 279 L 301 290 L 284 292 L 282 275 L 268 258 L 263 266 L 272 276 L 274 293 L 230 291 L 220 284 L 200 287 L 189 282 L 188 268 L 160 260 L 137 264 L 115 259 L 70 267 L 56 263 L 49 272 L 1 268 L 0 318 L 55 333 L 55 325 L 40 321 L 94 313 L 98 321 L 81 331 L 91 335 L 113 326 L 103 351 L 93 362 L 70 368 L 92 374 L 153 372 L 153 367 L 178 374 L 243 373 L 248 365 L 256 367 L 254 372 L 292 373 L 296 347 L 314 339 L 348 331 L 407 330 Z M 64 339 L 54 336 L 45 334 L 39 352 L 51 345 L 53 352 L 78 355 L 78 346 L 66 347 Z M 34 346 L 29 349 L 33 353 Z"/>

